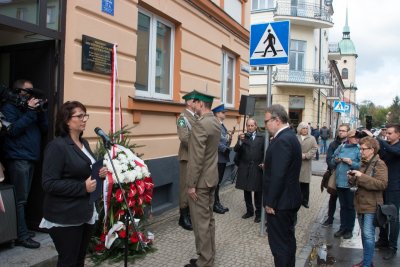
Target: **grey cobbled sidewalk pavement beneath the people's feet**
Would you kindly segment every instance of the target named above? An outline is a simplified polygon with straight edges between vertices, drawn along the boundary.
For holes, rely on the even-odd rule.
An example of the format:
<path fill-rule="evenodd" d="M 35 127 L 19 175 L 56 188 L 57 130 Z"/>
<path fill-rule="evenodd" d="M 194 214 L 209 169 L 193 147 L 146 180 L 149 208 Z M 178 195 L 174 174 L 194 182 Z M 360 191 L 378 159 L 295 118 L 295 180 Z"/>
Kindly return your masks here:
<path fill-rule="evenodd" d="M 351 266 L 359 262 L 362 256 L 358 228 L 355 229 L 354 238 L 350 241 L 333 238 L 333 233 L 338 229 L 339 213 L 335 215 L 335 224 L 331 228 L 323 228 L 321 222 L 327 213 L 329 195 L 320 191 L 321 177 L 326 170 L 325 157 L 321 155 L 319 161 L 313 161 L 313 177 L 310 183 L 310 208 L 301 208 L 298 213 L 296 225 L 296 266 L 318 266 L 309 263 L 309 256 L 313 248 L 318 249 L 320 244 L 328 246 L 328 257 L 334 264 L 319 266 Z M 220 215 L 215 214 L 216 224 L 216 267 L 225 266 L 274 266 L 273 257 L 268 245 L 266 234 L 260 234 L 260 224 L 254 223 L 253 218 L 242 219 L 245 213 L 243 191 L 235 189 L 229 184 L 221 189 L 221 201 L 229 207 L 229 212 Z M 339 205 L 338 205 L 339 207 Z M 356 225 L 358 223 L 356 222 Z M 147 254 L 142 259 L 137 259 L 133 266 L 184 266 L 190 258 L 196 257 L 194 235 L 178 226 L 178 209 L 171 210 L 149 221 L 147 227 L 154 233 L 153 253 Z M 41 242 L 41 248 L 37 250 L 15 247 L 13 249 L 0 247 L 0 266 L 55 266 L 57 253 L 47 234 L 37 233 L 35 240 Z M 349 247 L 350 246 L 350 247 Z M 375 259 L 381 257 L 377 252 Z M 375 266 L 396 266 L 399 256 L 389 263 L 375 261 Z M 322 262 L 320 261 L 322 264 Z M 317 263 L 315 263 L 317 264 Z M 385 265 L 386 264 L 386 265 Z M 95 265 L 90 258 L 86 260 L 86 266 L 124 266 L 123 261 L 104 262 Z"/>

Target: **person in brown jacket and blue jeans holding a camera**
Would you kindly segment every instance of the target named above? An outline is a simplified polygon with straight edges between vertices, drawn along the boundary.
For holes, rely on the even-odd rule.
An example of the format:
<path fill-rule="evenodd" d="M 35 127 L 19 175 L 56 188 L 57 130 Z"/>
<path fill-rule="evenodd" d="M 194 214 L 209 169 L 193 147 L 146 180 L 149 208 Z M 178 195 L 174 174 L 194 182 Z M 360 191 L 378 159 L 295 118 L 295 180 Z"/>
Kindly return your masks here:
<path fill-rule="evenodd" d="M 358 214 L 363 244 L 363 260 L 353 267 L 373 266 L 375 248 L 375 211 L 377 204 L 383 204 L 383 191 L 387 186 L 386 164 L 379 158 L 379 143 L 372 137 L 360 140 L 361 168 L 348 173 L 350 185 L 357 188 L 354 205 Z"/>

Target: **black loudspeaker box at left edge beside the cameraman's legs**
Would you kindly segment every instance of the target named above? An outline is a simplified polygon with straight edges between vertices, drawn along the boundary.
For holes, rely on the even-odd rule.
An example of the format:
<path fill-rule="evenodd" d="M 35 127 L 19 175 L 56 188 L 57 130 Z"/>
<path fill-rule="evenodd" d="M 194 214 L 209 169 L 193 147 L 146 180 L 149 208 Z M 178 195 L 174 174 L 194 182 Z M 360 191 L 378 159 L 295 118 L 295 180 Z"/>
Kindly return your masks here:
<path fill-rule="evenodd" d="M 1 200 L 4 211 L 0 209 L 0 244 L 17 239 L 17 213 L 14 186 L 0 183 Z"/>

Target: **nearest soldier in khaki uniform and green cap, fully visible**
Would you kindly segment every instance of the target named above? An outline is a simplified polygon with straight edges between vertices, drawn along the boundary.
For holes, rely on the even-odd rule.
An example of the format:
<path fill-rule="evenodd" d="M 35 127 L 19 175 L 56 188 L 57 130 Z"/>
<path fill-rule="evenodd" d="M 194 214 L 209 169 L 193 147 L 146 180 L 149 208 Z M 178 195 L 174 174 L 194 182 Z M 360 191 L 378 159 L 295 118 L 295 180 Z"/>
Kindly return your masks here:
<path fill-rule="evenodd" d="M 195 92 L 196 113 L 200 116 L 193 125 L 189 140 L 189 161 L 186 186 L 190 217 L 195 236 L 197 259 L 185 267 L 213 266 L 215 259 L 214 192 L 218 185 L 218 144 L 221 125 L 211 112 L 213 96 Z"/>

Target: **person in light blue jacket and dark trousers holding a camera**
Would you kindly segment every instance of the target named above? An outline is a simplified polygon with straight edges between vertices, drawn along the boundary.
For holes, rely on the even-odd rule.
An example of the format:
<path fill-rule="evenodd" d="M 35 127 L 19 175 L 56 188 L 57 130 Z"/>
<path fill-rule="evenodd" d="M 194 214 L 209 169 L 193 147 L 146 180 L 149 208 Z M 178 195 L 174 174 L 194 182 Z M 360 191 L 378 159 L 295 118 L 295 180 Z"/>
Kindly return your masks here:
<path fill-rule="evenodd" d="M 340 145 L 332 156 L 332 166 L 336 172 L 336 191 L 340 203 L 340 229 L 335 237 L 350 239 L 353 237 L 356 211 L 354 209 L 354 192 L 350 190 L 347 172 L 360 167 L 359 136 L 356 130 L 350 130 L 347 141 Z"/>

